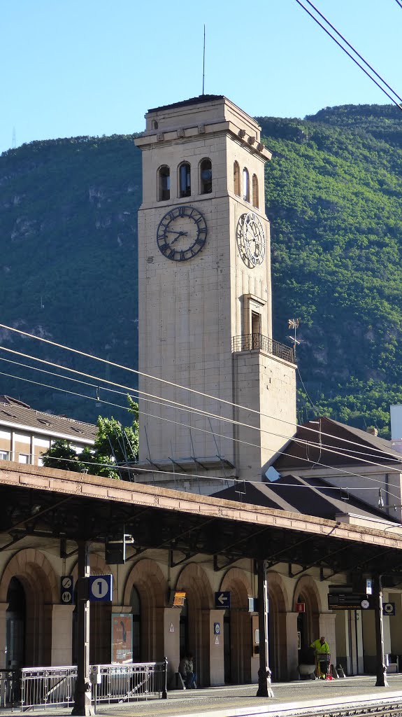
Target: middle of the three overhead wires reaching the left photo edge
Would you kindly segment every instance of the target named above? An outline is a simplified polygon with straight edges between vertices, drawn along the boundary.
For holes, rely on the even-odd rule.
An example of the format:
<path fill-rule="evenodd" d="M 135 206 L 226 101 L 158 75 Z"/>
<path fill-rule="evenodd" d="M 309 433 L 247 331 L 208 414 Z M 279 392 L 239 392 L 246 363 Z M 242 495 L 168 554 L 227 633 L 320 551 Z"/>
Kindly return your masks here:
<path fill-rule="evenodd" d="M 143 393 L 142 391 L 139 391 L 138 389 L 133 389 L 132 386 L 124 386 L 124 384 L 117 384 L 116 382 L 114 382 L 114 381 L 109 381 L 108 379 L 101 379 L 101 378 L 99 378 L 98 376 L 93 376 L 92 374 L 86 374 L 86 373 L 84 373 L 83 371 L 77 371 L 77 369 L 69 369 L 69 367 L 67 367 L 67 366 L 62 367 L 62 366 L 60 366 L 59 364 L 54 364 L 54 362 L 52 362 L 52 361 L 46 361 L 45 359 L 36 359 L 34 356 L 30 356 L 29 354 L 22 353 L 21 351 L 16 351 L 16 350 L 11 349 L 11 348 L 6 348 L 5 346 L 0 346 L 0 348 L 1 348 L 2 350 L 4 350 L 4 351 L 9 351 L 9 352 L 11 352 L 11 353 L 16 353 L 16 354 L 19 355 L 19 356 L 24 356 L 25 358 L 29 358 L 29 359 L 34 360 L 34 361 L 39 361 L 40 363 L 50 364 L 51 366 L 56 366 L 56 367 L 59 368 L 59 369 L 60 369 L 60 368 L 64 368 L 64 370 L 66 370 L 66 371 L 72 371 L 72 373 L 74 373 L 74 374 L 79 374 L 79 375 L 82 375 L 82 376 L 86 376 L 87 378 L 90 378 L 90 379 L 94 379 L 94 380 L 97 380 L 97 381 L 109 383 L 109 384 L 112 384 L 113 386 L 119 386 L 120 388 L 124 388 L 124 389 L 126 389 L 127 391 L 132 391 L 132 393 L 134 393 L 134 394 Z M 175 410 L 182 410 L 182 411 L 190 412 L 190 413 L 193 413 L 193 414 L 198 415 L 198 416 L 201 416 L 201 417 L 214 418 L 214 419 L 220 420 L 220 421 L 225 422 L 225 423 L 230 423 L 230 424 L 232 424 L 232 425 L 236 425 L 236 426 L 238 426 L 238 427 L 245 427 L 245 428 L 249 428 L 249 429 L 250 429 L 250 428 L 251 428 L 251 429 L 255 429 L 255 430 L 258 430 L 259 432 L 268 433 L 269 435 L 275 435 L 275 436 L 277 436 L 277 437 L 284 438 L 285 440 L 294 440 L 295 442 L 298 442 L 298 443 L 300 443 L 301 445 L 306 445 L 306 446 L 308 446 L 308 447 L 320 447 L 320 449 L 325 448 L 325 450 L 326 450 L 327 452 L 333 453 L 333 454 L 335 454 L 335 455 L 341 455 L 342 457 L 349 457 L 349 458 L 351 457 L 351 458 L 355 458 L 355 459 L 356 459 L 356 456 L 350 456 L 350 455 L 348 455 L 348 454 L 345 453 L 345 452 L 340 452 L 339 450 L 338 450 L 338 451 L 337 451 L 337 450 L 334 450 L 333 448 L 328 447 L 328 445 L 323 444 L 322 442 L 320 442 L 320 444 L 318 444 L 318 443 L 315 443 L 315 442 L 309 442 L 309 441 L 307 441 L 307 440 L 300 439 L 300 438 L 297 437 L 297 436 L 287 436 L 287 435 L 280 434 L 280 433 L 278 433 L 278 432 L 273 432 L 273 431 L 268 431 L 268 430 L 265 430 L 265 429 L 260 429 L 260 428 L 255 427 L 255 426 L 250 426 L 250 424 L 246 424 L 246 423 L 244 423 L 244 422 L 235 421 L 234 419 L 228 419 L 227 417 L 222 417 L 222 416 L 220 416 L 220 415 L 218 415 L 218 414 L 212 414 L 211 412 L 203 411 L 202 409 L 197 409 L 197 408 L 194 409 L 194 408 L 188 407 L 186 404 L 179 404 L 179 403 L 177 403 L 177 402 L 172 402 L 170 399 L 165 399 L 165 398 L 163 398 L 163 397 L 157 397 L 157 396 L 155 396 L 154 394 L 144 394 L 144 395 L 147 395 L 148 397 L 151 396 L 152 399 L 158 399 L 158 401 L 152 401 L 152 402 L 155 402 L 155 403 L 160 403 L 160 400 L 162 400 L 163 403 L 161 403 L 161 405 L 162 405 L 162 406 L 165 406 L 165 407 L 167 407 L 167 408 L 172 408 L 172 409 L 175 409 Z M 144 400 L 148 400 L 148 401 L 149 401 L 150 399 L 144 399 Z M 219 400 L 219 399 L 217 399 L 217 400 Z M 159 419 L 160 417 L 155 417 L 155 418 Z M 303 428 L 306 429 L 306 427 L 303 427 Z M 312 430 L 313 432 L 317 432 L 317 433 L 319 433 L 320 436 L 323 436 L 323 435 L 328 435 L 328 436 L 330 436 L 330 434 L 326 434 L 325 432 L 322 432 L 322 431 L 316 431 L 315 429 L 310 429 L 309 427 L 308 427 L 308 430 Z M 215 434 L 215 435 L 216 435 L 216 434 Z M 348 441 L 348 440 L 346 440 L 346 439 L 341 439 L 341 440 L 344 440 L 344 441 L 346 441 L 346 442 L 348 442 L 348 443 L 352 443 L 353 445 L 361 446 L 361 444 L 358 444 L 357 442 L 354 442 L 354 441 L 351 442 L 351 441 Z M 345 451 L 346 449 L 341 449 L 341 450 L 344 450 L 344 451 Z M 377 450 L 377 449 L 374 449 L 374 450 Z M 352 451 L 350 451 L 350 452 L 352 452 Z M 353 452 L 355 452 L 355 451 L 353 451 Z M 378 452 L 379 452 L 379 449 L 378 449 Z M 366 454 L 366 455 L 371 455 L 371 454 Z M 379 457 L 380 457 L 380 456 L 379 456 Z M 381 457 L 383 457 L 383 455 L 381 455 Z M 374 461 L 372 460 L 372 455 L 371 455 L 371 460 L 366 460 L 366 459 L 363 459 L 363 458 L 359 458 L 359 460 L 361 460 L 362 462 L 366 462 L 366 463 L 368 463 L 368 464 L 370 464 L 370 465 L 375 465 L 375 466 L 383 467 L 383 465 L 378 464 L 378 463 L 376 463 L 376 462 L 374 462 Z M 397 459 L 396 459 L 396 457 L 392 457 L 392 458 L 387 459 L 387 460 L 393 460 L 393 462 L 395 462 Z M 393 471 L 395 471 L 396 473 L 399 473 L 399 470 L 396 469 L 396 468 L 390 467 L 390 470 L 393 470 Z"/>

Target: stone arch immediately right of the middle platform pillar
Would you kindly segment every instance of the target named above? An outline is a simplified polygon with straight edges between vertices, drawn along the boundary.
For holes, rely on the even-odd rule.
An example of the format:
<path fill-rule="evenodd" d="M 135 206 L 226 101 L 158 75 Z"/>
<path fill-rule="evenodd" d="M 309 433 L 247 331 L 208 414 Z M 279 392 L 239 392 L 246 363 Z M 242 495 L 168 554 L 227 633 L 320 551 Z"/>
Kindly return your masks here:
<path fill-rule="evenodd" d="M 268 641 L 273 680 L 288 679 L 288 638 L 286 630 L 289 597 L 282 576 L 268 571 Z"/>

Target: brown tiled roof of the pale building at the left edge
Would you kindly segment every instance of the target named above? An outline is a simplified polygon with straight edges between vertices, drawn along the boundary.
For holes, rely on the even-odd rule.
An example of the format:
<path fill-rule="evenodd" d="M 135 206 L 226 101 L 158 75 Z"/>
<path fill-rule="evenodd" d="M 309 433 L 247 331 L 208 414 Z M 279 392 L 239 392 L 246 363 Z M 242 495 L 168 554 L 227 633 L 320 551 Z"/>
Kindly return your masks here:
<path fill-rule="evenodd" d="M 51 436 L 69 436 L 71 440 L 84 442 L 93 441 L 97 432 L 97 427 L 92 423 L 35 411 L 28 404 L 4 395 L 0 396 L 0 427 L 1 424 L 14 424 L 20 428 L 26 427 L 26 430 Z"/>

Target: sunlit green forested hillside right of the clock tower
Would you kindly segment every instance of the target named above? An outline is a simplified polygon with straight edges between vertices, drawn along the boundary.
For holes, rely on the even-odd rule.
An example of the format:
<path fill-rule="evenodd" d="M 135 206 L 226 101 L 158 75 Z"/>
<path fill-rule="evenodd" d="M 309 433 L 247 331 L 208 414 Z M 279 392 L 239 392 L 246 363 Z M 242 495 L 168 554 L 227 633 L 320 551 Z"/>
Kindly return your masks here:
<path fill-rule="evenodd" d="M 259 120 L 274 155 L 275 334 L 300 317 L 298 364 L 317 409 L 386 435 L 389 405 L 402 402 L 402 113 L 347 106 Z"/>

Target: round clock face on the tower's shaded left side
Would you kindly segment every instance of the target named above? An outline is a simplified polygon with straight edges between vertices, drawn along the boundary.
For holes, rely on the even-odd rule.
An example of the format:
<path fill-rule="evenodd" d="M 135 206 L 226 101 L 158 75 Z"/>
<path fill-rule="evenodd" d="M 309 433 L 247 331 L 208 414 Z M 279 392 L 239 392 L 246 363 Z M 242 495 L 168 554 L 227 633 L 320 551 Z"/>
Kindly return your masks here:
<path fill-rule="evenodd" d="M 174 262 L 195 257 L 207 239 L 207 223 L 193 206 L 176 206 L 162 217 L 157 228 L 157 245 Z"/>

